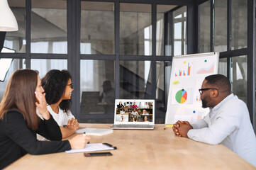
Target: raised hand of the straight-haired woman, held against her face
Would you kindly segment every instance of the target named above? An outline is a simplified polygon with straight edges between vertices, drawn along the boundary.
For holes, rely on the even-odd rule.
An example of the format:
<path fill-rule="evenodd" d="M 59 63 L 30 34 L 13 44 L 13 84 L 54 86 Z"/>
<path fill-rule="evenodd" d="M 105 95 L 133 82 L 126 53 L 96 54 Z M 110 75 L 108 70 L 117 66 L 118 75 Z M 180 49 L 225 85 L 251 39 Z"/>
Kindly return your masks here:
<path fill-rule="evenodd" d="M 50 113 L 48 112 L 46 106 L 45 94 L 41 94 L 35 91 L 35 98 L 37 99 L 35 106 L 38 107 L 38 112 L 40 115 L 42 115 L 45 120 L 50 119 Z"/>

